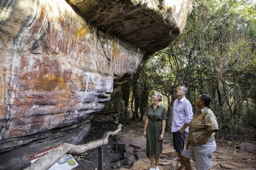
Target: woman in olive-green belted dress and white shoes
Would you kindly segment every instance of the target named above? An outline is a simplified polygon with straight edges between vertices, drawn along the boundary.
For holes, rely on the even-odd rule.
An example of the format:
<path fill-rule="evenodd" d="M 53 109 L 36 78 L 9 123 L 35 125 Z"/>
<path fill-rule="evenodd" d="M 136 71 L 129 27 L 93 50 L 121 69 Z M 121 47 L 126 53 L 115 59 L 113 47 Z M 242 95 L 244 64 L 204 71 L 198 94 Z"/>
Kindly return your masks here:
<path fill-rule="evenodd" d="M 167 119 L 166 108 L 159 103 L 163 95 L 155 92 L 152 96 L 153 104 L 148 105 L 146 112 L 146 121 L 144 126 L 144 137 L 147 138 L 147 156 L 150 160 L 151 168 L 149 170 L 159 170 L 158 162 L 163 151 L 163 140 L 165 130 L 165 119 Z M 154 160 L 156 166 L 154 167 Z"/>

